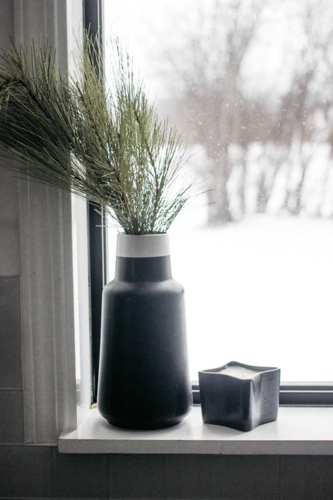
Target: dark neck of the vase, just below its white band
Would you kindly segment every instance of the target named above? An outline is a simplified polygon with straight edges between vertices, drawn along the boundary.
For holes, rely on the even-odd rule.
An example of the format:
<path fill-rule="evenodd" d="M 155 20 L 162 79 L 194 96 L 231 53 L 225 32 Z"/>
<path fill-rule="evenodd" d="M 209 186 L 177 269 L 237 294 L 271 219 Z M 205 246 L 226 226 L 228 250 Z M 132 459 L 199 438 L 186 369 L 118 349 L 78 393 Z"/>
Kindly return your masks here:
<path fill-rule="evenodd" d="M 163 257 L 116 257 L 117 281 L 164 281 L 171 279 L 170 255 Z"/>

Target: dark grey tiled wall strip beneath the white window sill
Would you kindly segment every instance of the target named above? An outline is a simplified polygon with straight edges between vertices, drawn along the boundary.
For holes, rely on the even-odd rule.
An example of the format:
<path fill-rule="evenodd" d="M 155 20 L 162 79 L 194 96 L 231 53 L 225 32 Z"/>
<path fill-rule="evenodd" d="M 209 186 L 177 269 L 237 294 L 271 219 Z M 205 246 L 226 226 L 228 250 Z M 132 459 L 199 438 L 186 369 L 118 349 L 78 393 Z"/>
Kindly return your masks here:
<path fill-rule="evenodd" d="M 0 470 L 0 499 L 333 498 L 333 456 L 84 455 L 2 444 Z"/>

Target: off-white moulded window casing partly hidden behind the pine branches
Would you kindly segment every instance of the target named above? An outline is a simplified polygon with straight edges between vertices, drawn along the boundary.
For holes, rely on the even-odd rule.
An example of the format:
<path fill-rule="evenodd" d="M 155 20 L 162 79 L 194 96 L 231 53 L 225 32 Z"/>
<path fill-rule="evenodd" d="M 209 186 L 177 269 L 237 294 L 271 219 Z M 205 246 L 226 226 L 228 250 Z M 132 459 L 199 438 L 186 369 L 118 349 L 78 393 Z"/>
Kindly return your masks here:
<path fill-rule="evenodd" d="M 6 4 L 4 4 L 6 2 Z M 3 0 L 13 23 L 1 46 L 50 38 L 57 64 L 72 69 L 71 50 L 82 30 L 82 1 Z M 13 182 L 17 182 L 13 175 Z M 18 180 L 24 440 L 57 444 L 76 427 L 71 197 Z"/>

